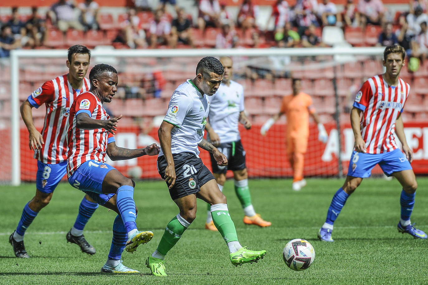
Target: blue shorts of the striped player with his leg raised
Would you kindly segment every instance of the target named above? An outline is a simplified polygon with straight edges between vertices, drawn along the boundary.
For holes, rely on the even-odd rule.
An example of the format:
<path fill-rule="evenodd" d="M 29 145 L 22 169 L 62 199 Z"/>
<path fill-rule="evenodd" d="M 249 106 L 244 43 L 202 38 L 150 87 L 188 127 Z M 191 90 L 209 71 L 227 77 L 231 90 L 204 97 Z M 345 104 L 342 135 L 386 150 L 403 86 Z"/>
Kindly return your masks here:
<path fill-rule="evenodd" d="M 89 195 L 98 204 L 104 205 L 116 194 L 103 194 L 102 186 L 107 173 L 116 169 L 107 163 L 89 160 L 83 162 L 68 178 L 68 183 Z"/>

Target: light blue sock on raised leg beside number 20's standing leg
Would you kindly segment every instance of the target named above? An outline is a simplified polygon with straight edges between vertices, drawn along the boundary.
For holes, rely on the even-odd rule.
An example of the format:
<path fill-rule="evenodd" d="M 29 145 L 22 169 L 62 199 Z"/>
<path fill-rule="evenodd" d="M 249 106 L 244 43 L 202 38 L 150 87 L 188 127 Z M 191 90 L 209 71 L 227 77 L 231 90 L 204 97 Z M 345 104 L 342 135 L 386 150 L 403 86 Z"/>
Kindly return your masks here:
<path fill-rule="evenodd" d="M 116 192 L 116 205 L 125 225 L 126 232 L 137 229 L 135 223 L 135 202 L 134 202 L 134 187 L 124 185 L 120 186 Z"/>

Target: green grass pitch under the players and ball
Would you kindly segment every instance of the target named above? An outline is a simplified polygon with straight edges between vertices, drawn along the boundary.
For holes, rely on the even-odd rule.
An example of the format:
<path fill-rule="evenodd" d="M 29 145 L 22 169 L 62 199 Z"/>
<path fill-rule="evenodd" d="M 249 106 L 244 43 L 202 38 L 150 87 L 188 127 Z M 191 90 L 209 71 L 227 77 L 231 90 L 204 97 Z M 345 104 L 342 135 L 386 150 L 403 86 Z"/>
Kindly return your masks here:
<path fill-rule="evenodd" d="M 66 243 L 65 234 L 74 223 L 83 193 L 68 183 L 56 189 L 51 204 L 43 209 L 25 236 L 30 259 L 15 258 L 9 234 L 15 229 L 25 203 L 33 197 L 34 184 L 1 186 L 0 284 L 427 284 L 428 240 L 400 234 L 401 188 L 396 180 L 363 180 L 348 199 L 335 224 L 334 243 L 317 240 L 338 179 L 308 179 L 300 192 L 291 190 L 291 180 L 250 180 L 256 211 L 272 222 L 270 228 L 244 225 L 243 213 L 226 182 L 224 193 L 241 244 L 266 249 L 258 263 L 232 266 L 229 251 L 219 233 L 204 229 L 206 206 L 198 201 L 196 220 L 166 257 L 167 277 L 149 275 L 144 261 L 163 234 L 165 225 L 178 213 L 162 181 L 138 182 L 134 198 L 139 209 L 140 230 L 152 230 L 153 240 L 134 254 L 124 252 L 124 264 L 140 270 L 134 275 L 105 275 L 112 237 L 113 211 L 99 207 L 85 228 L 85 237 L 97 250 L 93 256 Z M 428 178 L 419 177 L 412 222 L 428 231 Z M 288 240 L 309 240 L 315 262 L 305 271 L 286 267 L 282 248 Z"/>

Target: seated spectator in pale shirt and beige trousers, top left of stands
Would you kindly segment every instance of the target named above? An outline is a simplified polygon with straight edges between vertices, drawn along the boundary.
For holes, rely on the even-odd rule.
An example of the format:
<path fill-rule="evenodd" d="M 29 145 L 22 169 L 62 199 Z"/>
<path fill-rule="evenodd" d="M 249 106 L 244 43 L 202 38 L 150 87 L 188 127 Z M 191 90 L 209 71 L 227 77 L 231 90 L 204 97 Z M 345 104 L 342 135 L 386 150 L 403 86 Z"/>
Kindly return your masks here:
<path fill-rule="evenodd" d="M 69 28 L 84 30 L 83 25 L 80 24 L 79 19 L 74 12 L 74 8 L 74 1 L 59 0 L 58 3 L 53 4 L 48 15 L 52 22 L 56 24 L 58 29 L 64 33 Z"/>

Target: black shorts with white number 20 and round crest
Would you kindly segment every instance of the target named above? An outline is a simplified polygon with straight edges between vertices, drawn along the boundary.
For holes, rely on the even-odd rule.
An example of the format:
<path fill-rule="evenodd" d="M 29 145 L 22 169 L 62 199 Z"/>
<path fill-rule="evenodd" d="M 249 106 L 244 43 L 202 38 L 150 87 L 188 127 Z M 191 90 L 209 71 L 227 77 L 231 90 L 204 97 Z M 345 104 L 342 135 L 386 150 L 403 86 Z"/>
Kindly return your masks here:
<path fill-rule="evenodd" d="M 214 179 L 211 171 L 203 164 L 202 159 L 193 153 L 172 154 L 175 165 L 175 184 L 169 189 L 172 200 L 199 192 L 200 187 Z M 166 159 L 158 157 L 158 171 L 165 179 Z M 168 187 L 170 183 L 166 183 Z"/>

